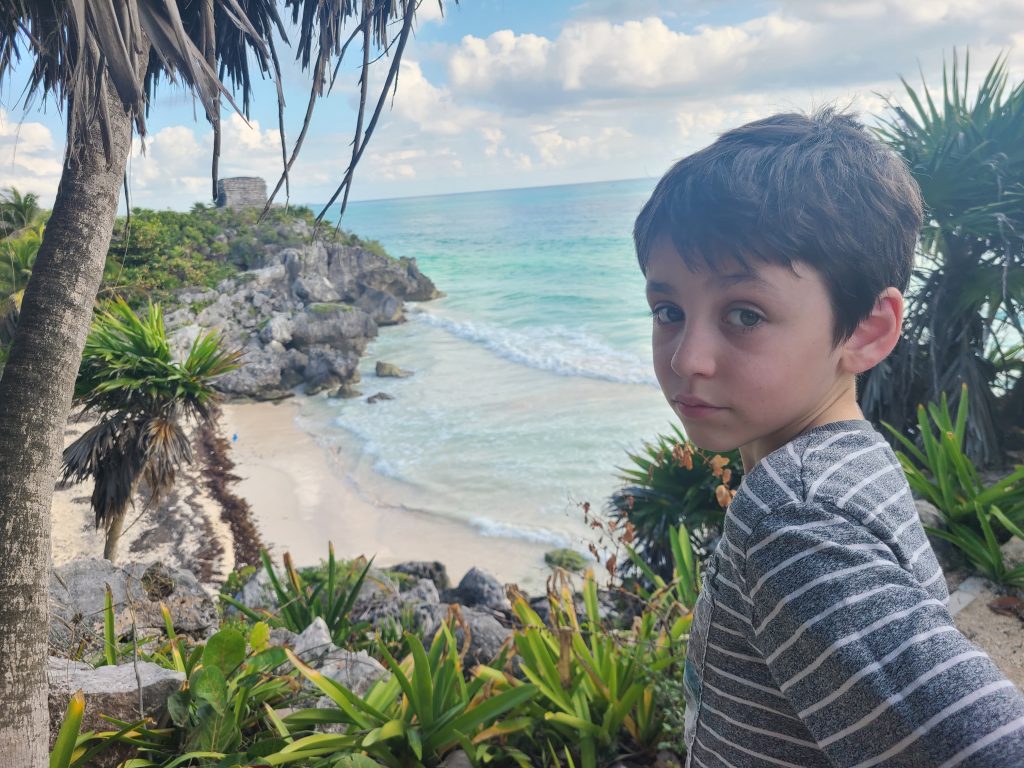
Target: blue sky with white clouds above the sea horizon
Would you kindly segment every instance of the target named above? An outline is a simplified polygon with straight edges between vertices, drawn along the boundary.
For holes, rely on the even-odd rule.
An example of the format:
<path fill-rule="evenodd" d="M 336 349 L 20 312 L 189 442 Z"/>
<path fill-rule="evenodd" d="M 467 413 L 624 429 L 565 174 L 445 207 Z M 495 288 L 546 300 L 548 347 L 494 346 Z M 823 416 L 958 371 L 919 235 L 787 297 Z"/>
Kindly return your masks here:
<path fill-rule="evenodd" d="M 1000 52 L 1024 78 L 1024 0 L 423 0 L 415 38 L 356 171 L 353 200 L 656 177 L 730 127 L 837 103 L 871 123 L 900 76 L 941 84 L 954 48 L 973 82 Z M 294 38 L 293 38 L 294 39 Z M 287 53 L 283 53 L 286 58 Z M 387 59 L 377 65 L 383 81 Z M 357 55 L 316 106 L 293 203 L 326 202 L 350 153 Z M 294 141 L 309 81 L 284 62 Z M 0 188 L 49 206 L 63 153 L 54 102 L 19 101 L 28 68 L 0 84 Z M 372 79 L 372 84 L 374 83 Z M 221 176 L 281 174 L 274 88 L 248 122 L 225 110 Z M 210 202 L 212 131 L 163 85 L 129 163 L 131 204 Z M 291 145 L 291 144 L 289 144 Z M 122 201 L 122 206 L 124 202 Z"/>

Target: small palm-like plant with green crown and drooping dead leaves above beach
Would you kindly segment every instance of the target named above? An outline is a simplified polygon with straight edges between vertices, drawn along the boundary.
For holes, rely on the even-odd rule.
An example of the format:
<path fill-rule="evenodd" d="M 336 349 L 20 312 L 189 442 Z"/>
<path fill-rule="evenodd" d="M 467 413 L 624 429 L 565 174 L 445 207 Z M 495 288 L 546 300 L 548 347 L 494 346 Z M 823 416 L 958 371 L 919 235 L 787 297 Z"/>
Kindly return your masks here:
<path fill-rule="evenodd" d="M 241 352 L 214 333 L 200 336 L 184 360 L 173 359 L 159 304 L 139 316 L 121 298 L 100 311 L 85 343 L 75 384 L 81 415 L 98 417 L 63 452 L 63 482 L 94 479 L 92 509 L 103 526 L 103 557 L 114 560 L 125 513 L 140 479 L 147 504 L 174 484 L 191 461 L 183 422 L 211 423 L 211 381 L 238 367 Z"/>

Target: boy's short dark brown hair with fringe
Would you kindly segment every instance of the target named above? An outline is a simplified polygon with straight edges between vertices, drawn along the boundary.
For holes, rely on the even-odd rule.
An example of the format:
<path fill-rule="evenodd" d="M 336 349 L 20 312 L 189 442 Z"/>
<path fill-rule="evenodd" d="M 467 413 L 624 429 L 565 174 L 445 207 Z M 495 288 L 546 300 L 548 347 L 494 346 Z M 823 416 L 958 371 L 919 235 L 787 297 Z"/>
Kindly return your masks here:
<path fill-rule="evenodd" d="M 725 259 L 821 274 L 848 339 L 890 286 L 906 290 L 922 225 L 921 190 L 902 160 L 833 109 L 734 128 L 676 163 L 633 230 L 640 268 L 668 237 L 686 266 Z"/>

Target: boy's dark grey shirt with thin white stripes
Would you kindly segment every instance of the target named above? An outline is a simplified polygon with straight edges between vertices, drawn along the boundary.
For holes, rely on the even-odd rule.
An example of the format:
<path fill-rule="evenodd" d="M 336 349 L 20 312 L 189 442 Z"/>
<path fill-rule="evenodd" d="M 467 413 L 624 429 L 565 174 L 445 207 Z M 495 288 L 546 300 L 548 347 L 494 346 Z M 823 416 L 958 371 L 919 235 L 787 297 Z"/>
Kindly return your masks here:
<path fill-rule="evenodd" d="M 761 462 L 725 516 L 687 648 L 688 766 L 1024 766 L 1024 696 L 953 626 L 866 421 Z"/>

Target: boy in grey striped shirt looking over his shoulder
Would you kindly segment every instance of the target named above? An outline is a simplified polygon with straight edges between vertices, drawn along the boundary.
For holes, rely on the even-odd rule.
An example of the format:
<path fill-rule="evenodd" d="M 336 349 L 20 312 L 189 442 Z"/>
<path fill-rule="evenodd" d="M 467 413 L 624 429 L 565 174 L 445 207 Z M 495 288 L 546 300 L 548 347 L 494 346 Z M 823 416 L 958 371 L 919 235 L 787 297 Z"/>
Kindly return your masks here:
<path fill-rule="evenodd" d="M 1024 697 L 953 626 L 857 407 L 921 223 L 900 160 L 830 110 L 723 134 L 637 218 L 662 390 L 746 472 L 693 615 L 690 766 L 1024 766 Z"/>

